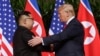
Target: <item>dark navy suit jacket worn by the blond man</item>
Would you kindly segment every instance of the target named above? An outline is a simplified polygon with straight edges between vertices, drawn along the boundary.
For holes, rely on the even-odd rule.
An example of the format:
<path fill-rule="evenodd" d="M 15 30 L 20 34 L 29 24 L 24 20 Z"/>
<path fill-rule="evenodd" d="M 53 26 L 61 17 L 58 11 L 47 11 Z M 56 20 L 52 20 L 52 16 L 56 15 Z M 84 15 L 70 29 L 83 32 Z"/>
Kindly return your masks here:
<path fill-rule="evenodd" d="M 63 32 L 43 39 L 44 45 L 56 43 L 56 56 L 84 56 L 84 30 L 81 23 L 72 19 Z"/>

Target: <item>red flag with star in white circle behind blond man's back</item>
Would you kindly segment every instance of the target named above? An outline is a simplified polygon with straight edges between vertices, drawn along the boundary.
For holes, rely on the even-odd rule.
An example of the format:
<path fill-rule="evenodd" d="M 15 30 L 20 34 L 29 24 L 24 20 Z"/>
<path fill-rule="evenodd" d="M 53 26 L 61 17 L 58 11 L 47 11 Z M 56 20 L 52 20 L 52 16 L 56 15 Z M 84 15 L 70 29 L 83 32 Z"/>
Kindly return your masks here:
<path fill-rule="evenodd" d="M 85 31 L 85 56 L 100 56 L 99 33 L 88 0 L 80 0 L 78 20 L 82 23 Z"/>

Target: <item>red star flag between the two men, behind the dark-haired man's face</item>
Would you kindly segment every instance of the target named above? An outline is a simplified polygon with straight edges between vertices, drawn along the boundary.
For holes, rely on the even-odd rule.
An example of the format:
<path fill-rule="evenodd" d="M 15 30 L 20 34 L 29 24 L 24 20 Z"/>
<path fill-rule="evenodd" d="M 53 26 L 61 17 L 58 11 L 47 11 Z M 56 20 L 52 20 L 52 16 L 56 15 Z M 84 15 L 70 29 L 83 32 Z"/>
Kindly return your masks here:
<path fill-rule="evenodd" d="M 37 4 L 37 0 L 27 0 L 25 10 L 30 11 L 34 18 L 32 32 L 36 36 L 45 37 L 46 32 L 42 21 L 42 16 L 40 14 L 39 7 Z M 51 56 L 51 54 L 50 52 L 42 52 L 42 56 Z"/>

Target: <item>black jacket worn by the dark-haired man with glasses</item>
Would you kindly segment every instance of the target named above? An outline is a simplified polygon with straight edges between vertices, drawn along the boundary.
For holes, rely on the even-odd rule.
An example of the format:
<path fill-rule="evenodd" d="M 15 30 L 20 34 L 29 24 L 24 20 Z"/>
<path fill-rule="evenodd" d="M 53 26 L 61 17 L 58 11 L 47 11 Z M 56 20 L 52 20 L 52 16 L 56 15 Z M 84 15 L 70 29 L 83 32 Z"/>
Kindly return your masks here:
<path fill-rule="evenodd" d="M 49 50 L 48 47 L 43 47 L 42 44 L 35 47 L 28 45 L 28 40 L 32 39 L 34 34 L 23 26 L 19 26 L 13 37 L 13 53 L 14 56 L 41 56 L 41 51 Z"/>

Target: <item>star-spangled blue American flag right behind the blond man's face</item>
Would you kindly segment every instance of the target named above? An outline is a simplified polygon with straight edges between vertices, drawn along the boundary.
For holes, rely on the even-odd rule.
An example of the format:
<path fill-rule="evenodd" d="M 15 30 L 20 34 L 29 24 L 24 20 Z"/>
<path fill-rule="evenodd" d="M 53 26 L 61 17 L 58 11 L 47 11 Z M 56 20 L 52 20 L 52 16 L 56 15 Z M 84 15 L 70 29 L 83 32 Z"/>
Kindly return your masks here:
<path fill-rule="evenodd" d="M 49 35 L 58 34 L 59 32 L 63 31 L 64 23 L 60 22 L 57 9 L 60 5 L 62 5 L 64 3 L 65 3 L 64 0 L 56 0 L 53 18 L 52 18 L 51 26 L 49 29 Z"/>

